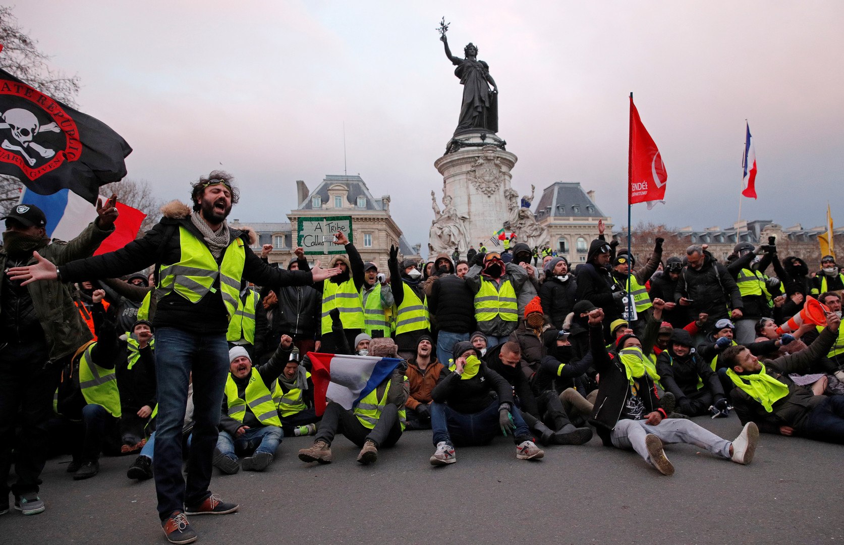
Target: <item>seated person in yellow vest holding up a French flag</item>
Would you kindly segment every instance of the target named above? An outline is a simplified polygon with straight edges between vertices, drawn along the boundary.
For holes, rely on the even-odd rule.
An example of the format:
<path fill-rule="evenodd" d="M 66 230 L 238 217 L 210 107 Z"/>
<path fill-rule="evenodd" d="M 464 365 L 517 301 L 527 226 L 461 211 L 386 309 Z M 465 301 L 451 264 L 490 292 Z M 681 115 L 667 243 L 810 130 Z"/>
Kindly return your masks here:
<path fill-rule="evenodd" d="M 389 337 L 374 338 L 369 355 L 378 358 L 398 358 L 398 347 Z M 317 437 L 310 448 L 299 451 L 301 461 L 331 463 L 331 443 L 340 433 L 361 447 L 358 461 L 370 464 L 378 460 L 378 449 L 395 445 L 404 431 L 404 403 L 408 399 L 408 385 L 403 380 L 403 365 L 381 381 L 354 407 L 347 411 L 338 402 L 330 402 L 322 414 Z"/>

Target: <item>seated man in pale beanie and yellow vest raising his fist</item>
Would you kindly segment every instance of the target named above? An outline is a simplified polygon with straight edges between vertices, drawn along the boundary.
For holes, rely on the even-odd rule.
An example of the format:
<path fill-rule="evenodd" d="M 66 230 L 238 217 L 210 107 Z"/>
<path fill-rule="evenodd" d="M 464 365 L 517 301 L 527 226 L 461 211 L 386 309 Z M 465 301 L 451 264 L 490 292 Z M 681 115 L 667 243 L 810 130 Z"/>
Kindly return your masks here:
<path fill-rule="evenodd" d="M 230 348 L 231 372 L 225 381 L 221 429 L 214 450 L 214 467 L 221 472 L 231 475 L 241 466 L 243 471 L 262 472 L 273 461 L 284 433 L 272 391 L 292 349 L 293 337 L 282 335 L 269 361 L 253 368 L 246 348 Z M 240 465 L 238 453 L 247 455 Z"/>

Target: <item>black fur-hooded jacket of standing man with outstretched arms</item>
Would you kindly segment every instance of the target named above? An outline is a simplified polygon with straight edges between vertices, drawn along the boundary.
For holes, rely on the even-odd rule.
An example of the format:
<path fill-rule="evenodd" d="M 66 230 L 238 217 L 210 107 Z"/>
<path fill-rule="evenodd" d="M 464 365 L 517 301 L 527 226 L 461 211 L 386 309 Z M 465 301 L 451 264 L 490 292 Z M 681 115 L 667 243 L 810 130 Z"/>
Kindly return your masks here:
<path fill-rule="evenodd" d="M 190 208 L 181 202 L 171 202 L 162 208 L 165 217 L 143 235 L 142 239 L 133 240 L 117 251 L 100 256 L 88 257 L 69 262 L 59 267 L 62 282 L 80 282 L 100 278 L 116 278 L 124 274 L 141 271 L 150 265 L 167 265 L 181 260 L 179 227 L 184 227 L 204 240 L 191 222 Z M 311 273 L 285 271 L 270 267 L 261 261 L 249 248 L 246 231 L 229 228 L 231 240 L 241 238 L 244 241 L 246 262 L 243 265 L 243 282 L 257 285 L 306 285 L 313 282 Z M 219 262 L 222 262 L 222 255 Z M 176 292 L 158 300 L 155 309 L 154 326 L 176 327 L 177 329 L 199 333 L 225 333 L 229 329 L 229 318 L 223 305 L 219 279 L 214 282 L 216 293 L 206 294 L 197 303 L 191 303 Z"/>

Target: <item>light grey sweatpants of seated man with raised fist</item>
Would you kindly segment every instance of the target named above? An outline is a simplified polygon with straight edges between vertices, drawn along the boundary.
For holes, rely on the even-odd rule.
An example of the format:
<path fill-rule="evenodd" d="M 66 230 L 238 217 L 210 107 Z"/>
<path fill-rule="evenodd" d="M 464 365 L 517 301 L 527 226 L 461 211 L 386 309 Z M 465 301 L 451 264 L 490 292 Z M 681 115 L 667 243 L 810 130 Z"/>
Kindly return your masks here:
<path fill-rule="evenodd" d="M 731 441 L 722 439 L 716 434 L 691 420 L 684 418 L 665 418 L 656 426 L 645 424 L 645 420 L 622 419 L 615 424 L 615 429 L 609 435 L 613 445 L 619 449 L 634 450 L 639 456 L 651 463 L 651 456 L 647 453 L 645 436 L 654 434 L 666 445 L 687 443 L 710 451 L 715 456 L 730 458 Z"/>

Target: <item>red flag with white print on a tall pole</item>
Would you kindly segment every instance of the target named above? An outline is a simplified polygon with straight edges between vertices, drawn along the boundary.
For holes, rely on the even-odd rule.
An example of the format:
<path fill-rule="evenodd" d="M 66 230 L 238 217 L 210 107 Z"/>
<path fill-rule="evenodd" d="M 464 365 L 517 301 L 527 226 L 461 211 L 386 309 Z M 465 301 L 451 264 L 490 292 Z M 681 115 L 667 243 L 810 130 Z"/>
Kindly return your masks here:
<path fill-rule="evenodd" d="M 657 202 L 665 202 L 668 172 L 657 144 L 641 124 L 639 111 L 630 94 L 630 168 L 628 170 L 627 203 L 647 202 L 650 210 Z"/>

